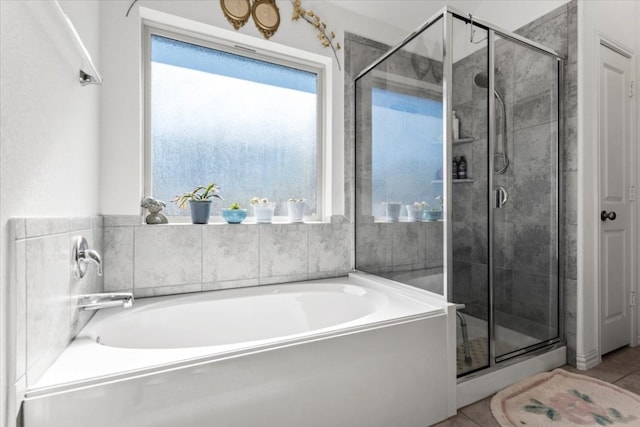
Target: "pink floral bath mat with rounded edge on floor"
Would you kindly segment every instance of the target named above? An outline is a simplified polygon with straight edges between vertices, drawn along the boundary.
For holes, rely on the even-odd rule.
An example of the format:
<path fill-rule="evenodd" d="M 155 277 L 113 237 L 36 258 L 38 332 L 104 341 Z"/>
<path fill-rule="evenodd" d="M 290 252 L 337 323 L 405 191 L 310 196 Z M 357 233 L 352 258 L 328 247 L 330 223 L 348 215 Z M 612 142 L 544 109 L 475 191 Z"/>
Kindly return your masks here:
<path fill-rule="evenodd" d="M 498 392 L 491 399 L 491 412 L 503 427 L 640 426 L 640 396 L 556 369 Z"/>

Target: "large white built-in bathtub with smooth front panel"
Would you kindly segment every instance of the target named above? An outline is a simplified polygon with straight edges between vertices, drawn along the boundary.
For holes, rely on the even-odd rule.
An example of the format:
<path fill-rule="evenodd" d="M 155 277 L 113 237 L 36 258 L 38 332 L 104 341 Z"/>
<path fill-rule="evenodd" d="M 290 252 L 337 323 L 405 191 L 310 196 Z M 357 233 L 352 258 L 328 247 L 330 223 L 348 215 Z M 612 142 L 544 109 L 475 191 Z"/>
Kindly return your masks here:
<path fill-rule="evenodd" d="M 454 318 L 361 274 L 140 299 L 94 316 L 24 426 L 424 427 L 455 413 Z"/>

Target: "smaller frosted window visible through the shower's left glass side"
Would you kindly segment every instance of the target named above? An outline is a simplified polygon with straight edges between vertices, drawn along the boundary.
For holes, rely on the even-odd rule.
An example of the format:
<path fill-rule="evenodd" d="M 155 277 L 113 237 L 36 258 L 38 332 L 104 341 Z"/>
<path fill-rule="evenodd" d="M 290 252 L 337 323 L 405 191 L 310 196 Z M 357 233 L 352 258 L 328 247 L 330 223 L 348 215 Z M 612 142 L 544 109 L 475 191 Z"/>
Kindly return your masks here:
<path fill-rule="evenodd" d="M 385 216 L 384 202 L 435 206 L 442 195 L 442 102 L 376 87 L 371 96 L 373 215 Z"/>

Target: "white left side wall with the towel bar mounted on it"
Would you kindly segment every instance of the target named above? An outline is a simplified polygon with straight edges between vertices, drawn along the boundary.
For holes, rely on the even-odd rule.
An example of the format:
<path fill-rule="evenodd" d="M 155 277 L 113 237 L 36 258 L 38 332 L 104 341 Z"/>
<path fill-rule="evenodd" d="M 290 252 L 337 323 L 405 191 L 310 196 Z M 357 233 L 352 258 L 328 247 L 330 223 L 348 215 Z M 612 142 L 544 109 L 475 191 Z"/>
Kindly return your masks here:
<path fill-rule="evenodd" d="M 98 4 L 64 1 L 62 7 L 98 59 Z M 81 61 L 51 2 L 3 0 L 0 18 L 0 426 L 10 426 L 7 221 L 98 213 L 100 92 L 78 83 Z"/>

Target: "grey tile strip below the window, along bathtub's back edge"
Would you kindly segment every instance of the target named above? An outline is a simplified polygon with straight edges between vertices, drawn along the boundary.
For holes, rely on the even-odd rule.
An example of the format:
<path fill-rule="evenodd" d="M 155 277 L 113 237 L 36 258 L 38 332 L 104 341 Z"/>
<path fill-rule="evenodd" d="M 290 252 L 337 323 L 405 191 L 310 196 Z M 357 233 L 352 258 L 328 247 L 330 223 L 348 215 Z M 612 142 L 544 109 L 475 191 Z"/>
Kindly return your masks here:
<path fill-rule="evenodd" d="M 346 275 L 353 226 L 140 224 L 105 217 L 105 289 L 146 297 Z"/>

